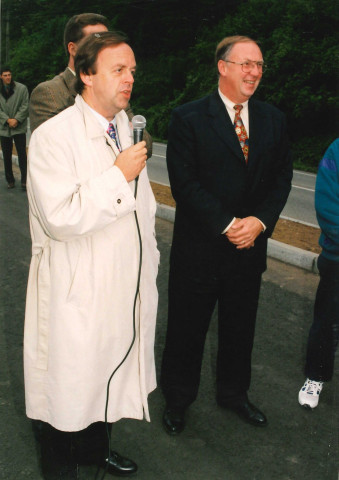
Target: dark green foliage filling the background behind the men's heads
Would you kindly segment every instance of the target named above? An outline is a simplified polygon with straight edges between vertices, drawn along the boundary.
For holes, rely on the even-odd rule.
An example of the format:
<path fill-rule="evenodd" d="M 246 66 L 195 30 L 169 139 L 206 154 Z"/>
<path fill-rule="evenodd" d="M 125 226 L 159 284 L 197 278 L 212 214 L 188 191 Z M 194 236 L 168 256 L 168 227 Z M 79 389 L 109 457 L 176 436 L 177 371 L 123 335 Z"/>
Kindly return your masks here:
<path fill-rule="evenodd" d="M 295 165 L 315 170 L 338 136 L 338 7 L 338 0 L 3 0 L 2 27 L 10 9 L 10 63 L 31 90 L 64 69 L 71 15 L 111 18 L 136 54 L 133 110 L 163 140 L 173 108 L 216 88 L 217 43 L 250 36 L 269 65 L 256 96 L 286 113 Z"/>

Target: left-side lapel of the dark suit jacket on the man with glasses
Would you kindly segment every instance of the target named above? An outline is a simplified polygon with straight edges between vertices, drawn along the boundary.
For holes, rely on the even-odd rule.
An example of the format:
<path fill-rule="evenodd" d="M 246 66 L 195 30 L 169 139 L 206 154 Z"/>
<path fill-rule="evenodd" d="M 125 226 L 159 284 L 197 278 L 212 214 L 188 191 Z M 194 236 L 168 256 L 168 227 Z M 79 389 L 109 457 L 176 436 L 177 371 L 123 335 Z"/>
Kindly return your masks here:
<path fill-rule="evenodd" d="M 207 115 L 211 119 L 212 128 L 225 143 L 225 146 L 230 148 L 240 161 L 244 162 L 244 154 L 241 150 L 239 139 L 218 91 L 210 96 Z"/>

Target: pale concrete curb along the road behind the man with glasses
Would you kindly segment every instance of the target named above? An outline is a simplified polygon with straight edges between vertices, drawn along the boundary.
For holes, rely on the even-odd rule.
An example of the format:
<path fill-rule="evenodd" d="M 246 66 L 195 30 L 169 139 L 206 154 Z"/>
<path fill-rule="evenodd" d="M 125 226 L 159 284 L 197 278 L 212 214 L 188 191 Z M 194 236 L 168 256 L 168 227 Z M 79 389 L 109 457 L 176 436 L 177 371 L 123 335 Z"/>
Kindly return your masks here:
<path fill-rule="evenodd" d="M 157 203 L 157 217 L 170 222 L 174 222 L 175 208 Z M 317 258 L 318 254 L 308 252 L 302 248 L 292 247 L 286 243 L 278 242 L 269 238 L 267 255 L 281 262 L 303 268 L 312 273 L 318 273 Z"/>

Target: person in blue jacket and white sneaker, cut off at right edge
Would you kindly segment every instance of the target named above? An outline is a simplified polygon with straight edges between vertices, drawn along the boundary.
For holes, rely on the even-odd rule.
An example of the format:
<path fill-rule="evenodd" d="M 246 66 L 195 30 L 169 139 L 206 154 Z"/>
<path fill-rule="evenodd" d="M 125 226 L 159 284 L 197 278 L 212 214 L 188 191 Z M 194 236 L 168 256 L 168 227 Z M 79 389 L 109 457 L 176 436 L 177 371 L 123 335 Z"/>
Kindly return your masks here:
<path fill-rule="evenodd" d="M 323 383 L 331 380 L 339 338 L 339 138 L 322 158 L 315 187 L 315 209 L 321 228 L 319 286 L 310 328 L 305 375 L 299 403 L 315 408 Z"/>

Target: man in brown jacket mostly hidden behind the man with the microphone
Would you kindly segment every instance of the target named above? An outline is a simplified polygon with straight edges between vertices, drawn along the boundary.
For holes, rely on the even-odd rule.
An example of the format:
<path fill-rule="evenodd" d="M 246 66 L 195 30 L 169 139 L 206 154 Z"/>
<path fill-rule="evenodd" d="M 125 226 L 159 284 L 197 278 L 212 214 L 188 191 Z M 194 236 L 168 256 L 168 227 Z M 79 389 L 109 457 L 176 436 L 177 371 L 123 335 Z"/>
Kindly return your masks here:
<path fill-rule="evenodd" d="M 32 92 L 29 106 L 31 132 L 39 125 L 74 104 L 76 97 L 74 58 L 79 42 L 91 33 L 108 30 L 108 20 L 97 13 L 81 13 L 71 17 L 64 31 L 64 48 L 68 55 L 68 65 L 63 73 L 52 80 L 40 83 Z M 133 112 L 126 106 L 126 113 L 131 120 Z M 152 137 L 144 131 L 147 156 L 152 155 Z"/>

